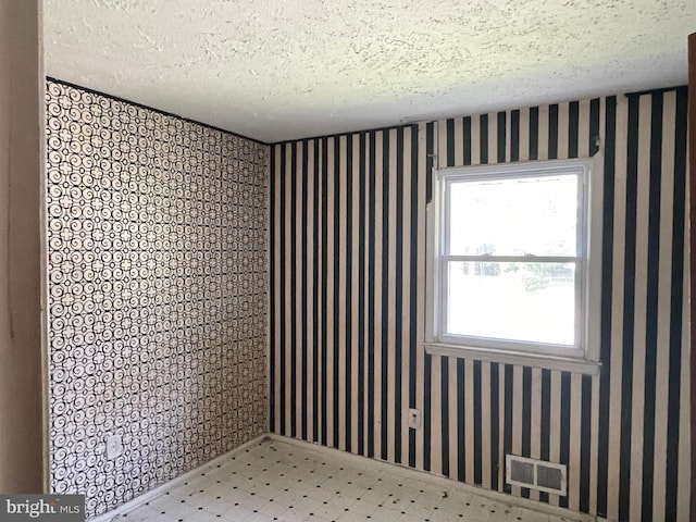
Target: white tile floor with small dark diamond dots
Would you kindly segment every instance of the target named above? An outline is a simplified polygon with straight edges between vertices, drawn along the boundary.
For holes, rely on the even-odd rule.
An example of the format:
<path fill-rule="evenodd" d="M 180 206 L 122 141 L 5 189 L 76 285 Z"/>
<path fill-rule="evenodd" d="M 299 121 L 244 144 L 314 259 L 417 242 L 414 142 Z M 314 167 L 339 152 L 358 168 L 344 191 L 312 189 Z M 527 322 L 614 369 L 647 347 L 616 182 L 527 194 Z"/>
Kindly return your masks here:
<path fill-rule="evenodd" d="M 114 522 L 560 522 L 439 480 L 264 439 Z"/>

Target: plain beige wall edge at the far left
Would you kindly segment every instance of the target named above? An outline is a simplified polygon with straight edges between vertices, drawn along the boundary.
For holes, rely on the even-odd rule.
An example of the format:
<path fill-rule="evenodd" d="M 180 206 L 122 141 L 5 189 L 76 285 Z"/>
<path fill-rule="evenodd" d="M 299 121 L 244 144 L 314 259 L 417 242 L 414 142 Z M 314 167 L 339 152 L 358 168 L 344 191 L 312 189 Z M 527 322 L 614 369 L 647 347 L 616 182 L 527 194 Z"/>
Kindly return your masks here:
<path fill-rule="evenodd" d="M 41 1 L 0 0 L 0 493 L 46 480 Z"/>

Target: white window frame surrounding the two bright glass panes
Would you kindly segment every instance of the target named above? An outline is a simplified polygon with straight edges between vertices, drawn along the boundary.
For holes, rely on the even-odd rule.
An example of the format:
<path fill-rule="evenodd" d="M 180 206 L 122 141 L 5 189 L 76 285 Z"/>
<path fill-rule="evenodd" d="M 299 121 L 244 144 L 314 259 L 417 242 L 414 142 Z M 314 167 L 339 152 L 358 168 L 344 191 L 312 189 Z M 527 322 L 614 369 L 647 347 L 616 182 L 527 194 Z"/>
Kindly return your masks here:
<path fill-rule="evenodd" d="M 425 349 L 430 353 L 474 358 L 499 362 L 523 363 L 542 368 L 598 372 L 599 307 L 601 278 L 601 156 L 593 158 L 531 161 L 496 165 L 433 170 L 433 200 L 427 207 L 427 320 Z M 444 333 L 446 310 L 447 261 L 470 260 L 467 256 L 446 254 L 446 219 L 448 186 L 451 183 L 486 178 L 579 175 L 577 241 L 581 246 L 575 275 L 575 341 L 572 347 L 540 343 L 500 340 L 458 336 Z M 550 262 L 552 259 L 543 258 Z M 567 260 L 568 258 L 563 258 Z M 500 261 L 500 259 L 494 259 Z M 561 261 L 559 259 L 559 261 Z"/>

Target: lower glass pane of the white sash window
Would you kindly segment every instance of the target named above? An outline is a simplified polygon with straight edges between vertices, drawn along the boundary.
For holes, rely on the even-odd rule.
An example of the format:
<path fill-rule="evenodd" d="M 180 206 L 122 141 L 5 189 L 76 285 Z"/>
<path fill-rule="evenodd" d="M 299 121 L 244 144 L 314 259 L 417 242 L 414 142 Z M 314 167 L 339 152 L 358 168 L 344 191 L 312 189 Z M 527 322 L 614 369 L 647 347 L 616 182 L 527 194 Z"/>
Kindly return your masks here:
<path fill-rule="evenodd" d="M 446 334 L 573 346 L 574 263 L 451 261 Z"/>

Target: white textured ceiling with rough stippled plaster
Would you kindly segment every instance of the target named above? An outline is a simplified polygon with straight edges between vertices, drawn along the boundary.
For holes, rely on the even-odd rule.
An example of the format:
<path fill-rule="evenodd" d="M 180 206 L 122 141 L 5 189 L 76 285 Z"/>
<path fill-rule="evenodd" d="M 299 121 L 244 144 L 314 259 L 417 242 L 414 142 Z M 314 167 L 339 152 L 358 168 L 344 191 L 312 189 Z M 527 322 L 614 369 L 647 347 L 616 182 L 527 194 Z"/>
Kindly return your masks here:
<path fill-rule="evenodd" d="M 49 76 L 264 141 L 685 84 L 694 0 L 45 0 Z"/>

